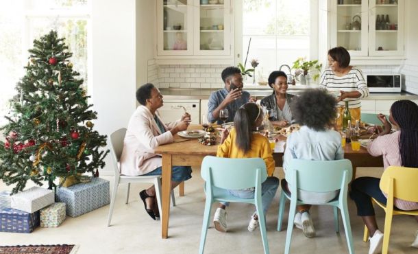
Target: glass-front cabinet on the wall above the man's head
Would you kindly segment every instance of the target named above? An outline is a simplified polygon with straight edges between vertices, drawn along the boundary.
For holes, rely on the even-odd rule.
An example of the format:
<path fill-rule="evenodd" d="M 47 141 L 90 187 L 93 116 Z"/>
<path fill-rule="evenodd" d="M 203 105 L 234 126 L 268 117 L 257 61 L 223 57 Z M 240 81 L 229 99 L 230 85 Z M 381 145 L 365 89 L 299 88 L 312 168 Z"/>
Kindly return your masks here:
<path fill-rule="evenodd" d="M 158 56 L 230 55 L 230 0 L 158 0 Z"/>

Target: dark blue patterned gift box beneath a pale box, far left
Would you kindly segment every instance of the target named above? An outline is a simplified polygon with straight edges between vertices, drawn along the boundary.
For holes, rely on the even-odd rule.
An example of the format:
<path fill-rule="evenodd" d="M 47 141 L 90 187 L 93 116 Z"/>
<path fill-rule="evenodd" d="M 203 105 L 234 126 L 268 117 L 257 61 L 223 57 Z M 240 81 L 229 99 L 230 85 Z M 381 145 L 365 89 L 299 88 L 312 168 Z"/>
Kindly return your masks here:
<path fill-rule="evenodd" d="M 27 213 L 12 208 L 0 208 L 0 231 L 31 233 L 39 226 L 39 211 Z"/>

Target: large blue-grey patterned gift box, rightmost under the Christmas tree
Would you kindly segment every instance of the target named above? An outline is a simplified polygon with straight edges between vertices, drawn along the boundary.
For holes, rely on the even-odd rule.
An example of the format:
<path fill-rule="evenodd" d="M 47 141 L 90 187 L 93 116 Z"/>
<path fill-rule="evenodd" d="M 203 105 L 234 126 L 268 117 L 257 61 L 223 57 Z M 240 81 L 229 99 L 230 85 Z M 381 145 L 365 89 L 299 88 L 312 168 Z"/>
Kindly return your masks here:
<path fill-rule="evenodd" d="M 66 204 L 66 214 L 77 217 L 110 203 L 109 181 L 92 178 L 90 183 L 78 183 L 57 189 L 59 202 Z"/>

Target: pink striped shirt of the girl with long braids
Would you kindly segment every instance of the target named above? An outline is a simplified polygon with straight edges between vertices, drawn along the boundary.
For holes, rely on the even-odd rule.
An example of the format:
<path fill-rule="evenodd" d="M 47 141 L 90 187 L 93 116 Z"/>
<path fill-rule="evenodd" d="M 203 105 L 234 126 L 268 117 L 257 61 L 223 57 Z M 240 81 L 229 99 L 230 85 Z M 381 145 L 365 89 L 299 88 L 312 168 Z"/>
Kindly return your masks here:
<path fill-rule="evenodd" d="M 369 154 L 373 156 L 383 155 L 383 168 L 386 170 L 391 165 L 402 165 L 401 153 L 399 152 L 399 138 L 401 136 L 400 131 L 395 131 L 388 135 L 377 137 L 371 141 L 367 146 Z M 386 193 L 383 193 L 387 197 Z M 395 198 L 395 207 L 410 211 L 418 209 L 418 202 L 410 202 Z"/>

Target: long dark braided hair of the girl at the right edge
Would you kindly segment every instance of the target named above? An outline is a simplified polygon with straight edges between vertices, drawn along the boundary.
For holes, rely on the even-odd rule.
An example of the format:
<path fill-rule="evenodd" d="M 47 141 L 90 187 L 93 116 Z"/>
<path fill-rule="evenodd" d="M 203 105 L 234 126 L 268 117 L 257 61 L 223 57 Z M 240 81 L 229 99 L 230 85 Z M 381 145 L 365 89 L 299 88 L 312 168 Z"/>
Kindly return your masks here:
<path fill-rule="evenodd" d="M 399 150 L 402 166 L 418 168 L 418 106 L 410 100 L 398 100 L 391 106 L 391 115 L 399 128 Z"/>

